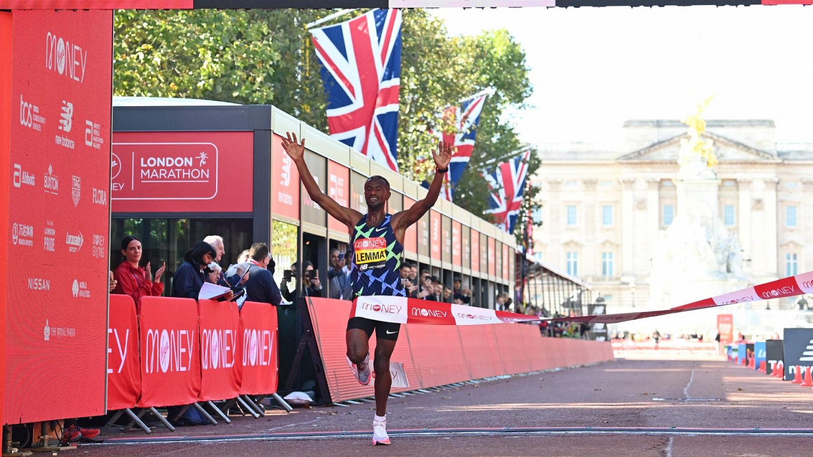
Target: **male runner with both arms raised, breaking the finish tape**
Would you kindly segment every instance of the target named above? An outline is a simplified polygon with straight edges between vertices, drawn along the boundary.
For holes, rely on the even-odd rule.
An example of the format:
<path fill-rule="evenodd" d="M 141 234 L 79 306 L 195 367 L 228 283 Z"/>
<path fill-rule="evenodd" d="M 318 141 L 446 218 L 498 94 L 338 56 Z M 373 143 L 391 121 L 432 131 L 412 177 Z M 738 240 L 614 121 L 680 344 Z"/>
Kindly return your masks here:
<path fill-rule="evenodd" d="M 401 285 L 398 268 L 401 266 L 404 233 L 415 224 L 426 211 L 429 211 L 441 192 L 443 174 L 449 171 L 452 145 L 441 141 L 435 159 L 435 177 L 426 198 L 415 202 L 411 208 L 394 215 L 386 212 L 389 200 L 389 182 L 382 176 L 372 176 L 364 183 L 364 199 L 367 201 L 367 214 L 351 208 L 341 207 L 333 198 L 322 193 L 305 163 L 305 139 L 297 142 L 296 134 L 287 133 L 282 139 L 282 147 L 293 163 L 297 164 L 302 185 L 308 195 L 335 219 L 347 225 L 350 230 L 350 281 L 354 297 L 361 295 L 391 295 L 406 297 Z M 347 359 L 354 376 L 362 385 L 370 383 L 369 339 L 376 331 L 376 355 L 373 369 L 376 370 L 376 416 L 372 420 L 372 444 L 390 444 L 387 436 L 387 397 L 393 383 L 389 374 L 389 357 L 395 349 L 401 324 L 353 317 L 347 322 Z"/>

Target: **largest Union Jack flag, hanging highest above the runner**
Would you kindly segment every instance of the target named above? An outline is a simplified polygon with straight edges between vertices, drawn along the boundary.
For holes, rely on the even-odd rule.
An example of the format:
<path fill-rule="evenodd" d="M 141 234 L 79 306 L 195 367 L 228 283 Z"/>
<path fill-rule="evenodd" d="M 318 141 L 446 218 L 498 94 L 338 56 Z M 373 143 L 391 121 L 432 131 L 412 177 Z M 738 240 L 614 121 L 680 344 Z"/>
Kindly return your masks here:
<path fill-rule="evenodd" d="M 330 135 L 398 172 L 401 11 L 372 10 L 311 34 Z"/>

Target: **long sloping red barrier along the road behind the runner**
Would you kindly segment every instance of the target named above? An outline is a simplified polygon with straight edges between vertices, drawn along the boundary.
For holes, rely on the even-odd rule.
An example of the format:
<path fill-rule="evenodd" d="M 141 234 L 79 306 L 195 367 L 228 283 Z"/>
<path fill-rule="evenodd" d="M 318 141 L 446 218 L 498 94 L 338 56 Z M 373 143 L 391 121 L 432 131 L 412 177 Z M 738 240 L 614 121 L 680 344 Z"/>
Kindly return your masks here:
<path fill-rule="evenodd" d="M 371 385 L 359 385 L 346 363 L 346 317 L 351 302 L 311 298 L 308 312 L 333 402 L 372 396 Z M 433 315 L 434 308 L 420 316 Z M 410 315 L 412 316 L 412 315 Z M 420 318 L 420 317 L 419 317 Z M 370 338 L 375 353 L 376 338 Z M 609 342 L 541 337 L 537 325 L 402 324 L 392 361 L 402 362 L 408 388 L 415 390 L 469 379 L 569 367 L 612 360 Z"/>

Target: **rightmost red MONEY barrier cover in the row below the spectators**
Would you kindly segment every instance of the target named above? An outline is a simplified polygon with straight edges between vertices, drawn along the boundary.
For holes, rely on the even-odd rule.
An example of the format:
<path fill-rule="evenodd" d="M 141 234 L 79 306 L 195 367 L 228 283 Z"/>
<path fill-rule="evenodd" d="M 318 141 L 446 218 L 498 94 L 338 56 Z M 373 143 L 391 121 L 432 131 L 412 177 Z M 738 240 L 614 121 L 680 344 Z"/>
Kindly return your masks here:
<path fill-rule="evenodd" d="M 241 395 L 276 392 L 279 381 L 276 307 L 245 302 L 240 309 L 237 334 L 237 373 Z"/>

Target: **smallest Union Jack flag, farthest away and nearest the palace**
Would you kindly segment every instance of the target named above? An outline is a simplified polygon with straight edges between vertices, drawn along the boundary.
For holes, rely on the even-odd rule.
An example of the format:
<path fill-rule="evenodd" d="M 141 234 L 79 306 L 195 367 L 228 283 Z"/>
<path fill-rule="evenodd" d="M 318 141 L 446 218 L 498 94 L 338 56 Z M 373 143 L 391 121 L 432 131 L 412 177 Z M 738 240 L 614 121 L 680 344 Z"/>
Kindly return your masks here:
<path fill-rule="evenodd" d="M 526 150 L 523 155 L 500 163 L 493 174 L 484 173 L 485 181 L 489 183 L 491 190 L 490 209 L 485 212 L 493 214 L 495 224 L 508 233 L 514 233 L 516 219 L 520 215 L 530 158 L 531 150 Z"/>

